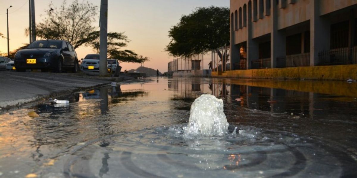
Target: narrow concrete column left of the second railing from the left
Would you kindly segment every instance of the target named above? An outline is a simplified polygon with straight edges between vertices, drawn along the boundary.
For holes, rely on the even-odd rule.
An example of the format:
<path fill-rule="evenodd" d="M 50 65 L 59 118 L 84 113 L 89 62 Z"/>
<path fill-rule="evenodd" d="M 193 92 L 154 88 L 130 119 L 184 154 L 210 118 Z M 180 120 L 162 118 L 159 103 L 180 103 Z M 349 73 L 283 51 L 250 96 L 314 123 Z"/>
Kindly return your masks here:
<path fill-rule="evenodd" d="M 247 69 L 251 69 L 251 62 L 258 59 L 258 43 L 253 40 L 252 4 L 248 4 L 248 39 L 247 39 Z"/>

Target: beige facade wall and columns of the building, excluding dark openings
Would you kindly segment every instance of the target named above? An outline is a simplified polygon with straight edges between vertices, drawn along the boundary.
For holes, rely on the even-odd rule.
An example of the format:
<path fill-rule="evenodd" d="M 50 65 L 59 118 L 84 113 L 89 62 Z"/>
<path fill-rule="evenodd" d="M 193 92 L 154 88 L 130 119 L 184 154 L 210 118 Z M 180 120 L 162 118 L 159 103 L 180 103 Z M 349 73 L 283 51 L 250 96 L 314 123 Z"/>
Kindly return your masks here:
<path fill-rule="evenodd" d="M 240 48 L 236 45 L 247 42 L 246 66 L 247 69 L 251 69 L 253 62 L 259 62 L 256 53 L 258 53 L 260 43 L 270 41 L 271 57 L 266 59 L 270 60 L 269 66 L 275 68 L 278 66 L 278 58 L 287 57 L 286 46 L 294 46 L 294 44 L 287 44 L 290 42 L 287 41 L 287 37 L 300 34 L 301 54 L 308 51 L 307 55 L 309 56 L 303 60 L 308 60 L 307 63 L 310 66 L 320 65 L 320 53 L 331 49 L 331 25 L 343 20 L 350 22 L 348 37 L 354 39 L 355 33 L 353 32 L 356 31 L 356 28 L 352 21 L 357 17 L 357 0 L 278 0 L 278 4 L 276 1 L 230 1 L 231 18 L 233 17 L 231 23 L 234 23 L 231 24 L 234 27 L 231 29 L 232 62 L 236 62 L 236 64 L 240 62 Z M 247 14 L 240 15 L 240 9 L 244 9 L 245 6 L 247 6 Z M 236 11 L 238 11 L 238 15 L 235 15 Z M 251 20 L 249 19 L 250 15 Z M 243 23 L 244 17 L 247 18 L 247 25 L 241 27 L 236 22 Z M 306 38 L 305 35 L 310 37 Z M 305 39 L 310 39 L 310 42 L 306 44 Z M 349 42 L 349 48 L 353 48 L 353 46 L 355 44 Z M 310 50 L 302 50 L 305 47 L 310 47 Z M 291 51 L 291 48 L 289 50 Z M 304 58 L 305 56 L 304 54 Z M 305 65 L 306 61 L 302 63 Z"/>

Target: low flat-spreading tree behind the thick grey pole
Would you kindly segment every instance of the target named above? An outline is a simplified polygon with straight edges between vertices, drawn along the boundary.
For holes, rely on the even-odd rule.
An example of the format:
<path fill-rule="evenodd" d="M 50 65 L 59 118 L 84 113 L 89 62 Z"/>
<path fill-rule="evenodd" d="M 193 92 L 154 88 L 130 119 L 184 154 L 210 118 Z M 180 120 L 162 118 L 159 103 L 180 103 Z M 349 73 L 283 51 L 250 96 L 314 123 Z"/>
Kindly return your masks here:
<path fill-rule="evenodd" d="M 96 52 L 99 52 L 99 39 L 100 31 L 94 31 L 88 35 L 86 46 L 92 47 Z M 126 47 L 127 43 L 130 42 L 128 37 L 124 33 L 109 32 L 108 33 L 108 58 L 117 59 L 119 63 L 122 62 L 132 62 L 132 63 L 143 63 L 149 61 L 149 58 L 139 56 L 134 51 L 131 50 L 120 50 L 121 47 Z"/>

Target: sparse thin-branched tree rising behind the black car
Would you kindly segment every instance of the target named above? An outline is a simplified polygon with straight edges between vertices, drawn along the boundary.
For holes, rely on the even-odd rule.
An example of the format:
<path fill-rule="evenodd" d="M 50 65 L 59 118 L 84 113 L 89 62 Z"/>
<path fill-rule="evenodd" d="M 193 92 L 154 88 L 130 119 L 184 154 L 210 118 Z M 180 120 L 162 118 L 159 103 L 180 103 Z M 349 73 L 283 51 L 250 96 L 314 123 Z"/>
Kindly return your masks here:
<path fill-rule="evenodd" d="M 45 19 L 36 24 L 36 36 L 42 39 L 66 40 L 76 49 L 88 42 L 88 35 L 95 30 L 98 7 L 88 1 L 74 0 L 67 5 L 66 0 L 57 9 L 52 2 Z M 28 31 L 28 29 L 27 29 Z"/>

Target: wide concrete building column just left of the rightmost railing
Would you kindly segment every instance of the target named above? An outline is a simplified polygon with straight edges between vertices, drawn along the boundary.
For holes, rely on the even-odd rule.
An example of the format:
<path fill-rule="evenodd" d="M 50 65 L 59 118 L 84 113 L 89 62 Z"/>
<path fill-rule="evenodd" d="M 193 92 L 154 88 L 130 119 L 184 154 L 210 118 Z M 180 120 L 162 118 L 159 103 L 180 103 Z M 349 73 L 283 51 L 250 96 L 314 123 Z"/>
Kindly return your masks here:
<path fill-rule="evenodd" d="M 310 1 L 310 66 L 319 63 L 319 52 L 330 49 L 331 26 L 327 19 L 320 16 L 320 1 Z"/>

